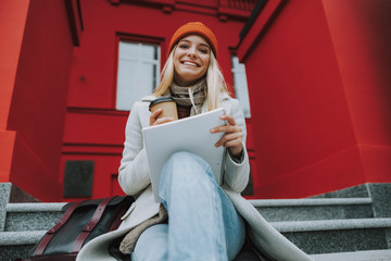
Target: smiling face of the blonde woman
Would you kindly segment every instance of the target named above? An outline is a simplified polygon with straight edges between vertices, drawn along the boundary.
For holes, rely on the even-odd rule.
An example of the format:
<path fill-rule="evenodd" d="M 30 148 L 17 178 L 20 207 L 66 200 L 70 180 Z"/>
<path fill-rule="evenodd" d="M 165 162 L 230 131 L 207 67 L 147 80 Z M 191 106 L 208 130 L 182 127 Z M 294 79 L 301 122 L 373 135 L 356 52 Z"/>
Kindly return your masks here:
<path fill-rule="evenodd" d="M 194 84 L 206 74 L 211 58 L 210 45 L 204 38 L 190 35 L 179 40 L 174 50 L 174 77 L 179 86 Z"/>

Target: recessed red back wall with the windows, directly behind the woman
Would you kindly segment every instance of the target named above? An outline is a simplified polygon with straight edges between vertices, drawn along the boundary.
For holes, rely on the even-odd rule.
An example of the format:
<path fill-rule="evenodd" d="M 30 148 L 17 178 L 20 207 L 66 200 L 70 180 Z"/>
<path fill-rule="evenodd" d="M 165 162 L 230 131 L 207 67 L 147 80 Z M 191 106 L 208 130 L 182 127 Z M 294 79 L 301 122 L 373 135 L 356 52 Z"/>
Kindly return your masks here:
<path fill-rule="evenodd" d="M 217 1 L 206 0 L 197 1 L 197 4 L 194 1 L 161 1 L 162 4 L 166 2 L 172 12 L 152 1 L 148 1 L 149 5 L 112 2 L 119 4 L 106 0 L 80 2 L 85 30 L 83 45 L 73 53 L 62 157 L 62 176 L 66 161 L 94 161 L 94 198 L 121 192 L 114 177 L 122 158 L 128 112 L 115 111 L 119 36 L 161 45 L 163 67 L 174 32 L 187 22 L 203 22 L 216 34 L 218 61 L 231 85 L 230 49 L 237 46 L 239 32 L 247 18 L 239 16 L 250 14 L 249 11 L 236 13 L 230 10 L 223 17 L 226 21 L 220 21 Z M 250 150 L 253 151 L 253 148 Z M 254 154 L 251 156 L 254 160 Z"/>

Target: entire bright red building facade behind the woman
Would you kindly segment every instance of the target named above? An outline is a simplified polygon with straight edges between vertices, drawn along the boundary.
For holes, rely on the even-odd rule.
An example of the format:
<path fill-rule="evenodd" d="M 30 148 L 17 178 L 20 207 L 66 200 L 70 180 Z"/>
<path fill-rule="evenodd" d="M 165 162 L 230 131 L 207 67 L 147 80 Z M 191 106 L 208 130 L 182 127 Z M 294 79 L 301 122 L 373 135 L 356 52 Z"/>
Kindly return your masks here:
<path fill-rule="evenodd" d="M 386 10 L 387 0 L 2 1 L 0 183 L 45 201 L 122 194 L 121 44 L 157 48 L 162 67 L 191 21 L 215 32 L 231 92 L 232 57 L 245 64 L 252 197 L 390 183 Z"/>

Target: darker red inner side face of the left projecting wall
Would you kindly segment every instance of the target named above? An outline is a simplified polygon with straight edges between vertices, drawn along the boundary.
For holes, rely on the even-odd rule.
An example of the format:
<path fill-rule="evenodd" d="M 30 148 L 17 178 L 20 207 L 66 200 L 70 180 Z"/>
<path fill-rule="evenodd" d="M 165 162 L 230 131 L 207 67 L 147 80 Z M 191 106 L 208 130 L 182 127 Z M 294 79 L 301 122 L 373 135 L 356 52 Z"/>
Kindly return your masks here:
<path fill-rule="evenodd" d="M 21 34 L 24 27 L 24 32 L 23 40 L 22 35 L 17 39 L 22 40 L 18 59 L 12 60 L 17 62 L 17 71 L 7 123 L 7 130 L 16 138 L 9 178 L 1 182 L 11 182 L 41 200 L 60 200 L 60 156 L 73 49 L 65 1 L 25 1 L 11 13 L 21 22 L 8 30 Z"/>

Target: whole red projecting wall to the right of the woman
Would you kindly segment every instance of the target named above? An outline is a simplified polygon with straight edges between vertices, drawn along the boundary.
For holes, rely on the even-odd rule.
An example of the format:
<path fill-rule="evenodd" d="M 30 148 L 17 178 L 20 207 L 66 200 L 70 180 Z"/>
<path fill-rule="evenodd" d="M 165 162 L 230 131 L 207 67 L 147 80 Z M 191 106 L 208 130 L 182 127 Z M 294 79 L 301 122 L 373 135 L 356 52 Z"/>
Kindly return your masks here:
<path fill-rule="evenodd" d="M 391 181 L 390 9 L 364 0 L 266 3 L 239 47 L 260 197 Z"/>

